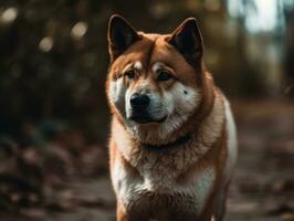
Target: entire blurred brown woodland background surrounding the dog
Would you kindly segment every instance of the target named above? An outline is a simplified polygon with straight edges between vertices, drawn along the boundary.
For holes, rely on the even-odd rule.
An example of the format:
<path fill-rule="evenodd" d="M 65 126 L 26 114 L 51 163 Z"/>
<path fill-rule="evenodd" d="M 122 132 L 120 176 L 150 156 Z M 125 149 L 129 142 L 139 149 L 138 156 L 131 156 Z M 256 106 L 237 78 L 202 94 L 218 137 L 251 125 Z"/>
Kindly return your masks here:
<path fill-rule="evenodd" d="M 294 220 L 293 0 L 1 0 L 0 219 L 115 220 L 106 30 L 202 30 L 240 157 L 227 220 Z"/>

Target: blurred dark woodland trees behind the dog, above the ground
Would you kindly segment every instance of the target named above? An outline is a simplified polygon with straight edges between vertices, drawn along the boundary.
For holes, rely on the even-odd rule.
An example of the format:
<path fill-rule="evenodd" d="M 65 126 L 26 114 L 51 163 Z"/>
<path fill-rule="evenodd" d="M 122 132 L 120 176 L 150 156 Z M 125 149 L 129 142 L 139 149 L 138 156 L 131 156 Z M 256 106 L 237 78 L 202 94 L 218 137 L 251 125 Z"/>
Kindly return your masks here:
<path fill-rule="evenodd" d="M 1 1 L 0 134 L 27 143 L 25 125 L 40 128 L 43 122 L 60 120 L 80 128 L 90 141 L 105 140 L 106 130 L 97 128 L 108 122 L 104 81 L 112 13 L 125 15 L 139 30 L 160 33 L 196 17 L 208 69 L 220 86 L 230 95 L 266 94 L 266 82 L 279 85 L 281 77 L 283 22 L 272 25 L 275 34 L 251 33 L 249 18 L 256 18 L 259 6 L 253 0 Z M 286 14 L 291 70 L 292 17 Z"/>

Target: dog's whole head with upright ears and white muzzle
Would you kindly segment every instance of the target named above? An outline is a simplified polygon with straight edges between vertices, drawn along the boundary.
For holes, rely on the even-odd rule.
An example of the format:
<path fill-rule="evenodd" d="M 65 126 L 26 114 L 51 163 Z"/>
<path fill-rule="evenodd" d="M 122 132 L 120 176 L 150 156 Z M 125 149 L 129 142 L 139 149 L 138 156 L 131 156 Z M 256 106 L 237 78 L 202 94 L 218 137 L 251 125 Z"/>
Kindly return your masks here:
<path fill-rule="evenodd" d="M 113 15 L 108 27 L 112 112 L 141 141 L 164 143 L 203 98 L 203 44 L 195 19 L 171 34 L 137 32 Z"/>

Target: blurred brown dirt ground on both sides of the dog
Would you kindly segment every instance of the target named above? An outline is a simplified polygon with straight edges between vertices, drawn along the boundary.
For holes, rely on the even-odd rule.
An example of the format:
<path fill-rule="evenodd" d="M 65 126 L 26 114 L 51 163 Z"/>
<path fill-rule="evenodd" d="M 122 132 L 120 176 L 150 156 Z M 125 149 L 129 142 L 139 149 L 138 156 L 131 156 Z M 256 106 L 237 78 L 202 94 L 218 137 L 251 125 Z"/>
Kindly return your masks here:
<path fill-rule="evenodd" d="M 294 103 L 238 101 L 232 106 L 240 151 L 225 220 L 294 220 Z M 62 208 L 23 213 L 45 221 L 115 220 L 115 198 L 107 173 L 71 180 L 59 200 Z M 28 218 L 10 215 L 6 220 Z"/>

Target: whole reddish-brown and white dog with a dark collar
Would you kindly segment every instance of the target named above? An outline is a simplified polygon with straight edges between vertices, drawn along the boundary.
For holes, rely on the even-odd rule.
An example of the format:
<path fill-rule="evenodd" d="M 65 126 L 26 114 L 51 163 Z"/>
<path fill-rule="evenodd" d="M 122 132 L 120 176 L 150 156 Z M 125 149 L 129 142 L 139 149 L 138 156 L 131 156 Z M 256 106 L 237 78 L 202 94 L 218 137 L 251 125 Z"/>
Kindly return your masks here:
<path fill-rule="evenodd" d="M 147 34 L 113 15 L 108 43 L 117 220 L 222 220 L 235 127 L 206 71 L 197 21 L 185 20 L 171 34 Z"/>

